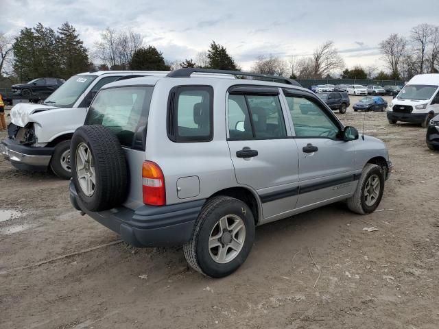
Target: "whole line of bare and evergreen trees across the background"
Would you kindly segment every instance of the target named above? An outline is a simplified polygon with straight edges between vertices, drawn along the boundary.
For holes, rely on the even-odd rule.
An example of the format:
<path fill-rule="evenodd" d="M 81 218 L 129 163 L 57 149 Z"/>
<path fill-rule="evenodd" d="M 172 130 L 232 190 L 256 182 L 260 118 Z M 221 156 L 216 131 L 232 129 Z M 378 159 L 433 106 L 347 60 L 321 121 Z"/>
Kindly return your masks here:
<path fill-rule="evenodd" d="M 342 78 L 378 80 L 410 79 L 418 73 L 438 73 L 439 27 L 421 24 L 413 27 L 407 37 L 390 34 L 379 43 L 379 50 L 387 72 L 379 71 L 376 66 L 357 65 L 346 69 L 333 41 L 322 43 L 309 56 L 258 56 L 251 71 L 307 79 L 329 78 L 344 69 Z M 44 76 L 67 79 L 93 69 L 170 71 L 184 67 L 240 69 L 226 47 L 215 41 L 195 58 L 170 62 L 156 47 L 145 45 L 141 34 L 132 31 L 108 28 L 91 51 L 84 47 L 75 27 L 69 23 L 63 23 L 56 30 L 38 23 L 35 27 L 21 29 L 15 38 L 0 33 L 0 77 L 15 76 L 19 81 Z"/>

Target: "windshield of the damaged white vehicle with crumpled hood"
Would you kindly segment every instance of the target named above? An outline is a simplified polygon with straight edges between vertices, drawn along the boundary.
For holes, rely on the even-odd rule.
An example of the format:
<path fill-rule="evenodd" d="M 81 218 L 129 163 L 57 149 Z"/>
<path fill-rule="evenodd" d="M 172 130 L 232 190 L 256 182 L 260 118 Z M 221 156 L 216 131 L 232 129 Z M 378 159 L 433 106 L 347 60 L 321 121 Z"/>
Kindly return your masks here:
<path fill-rule="evenodd" d="M 73 75 L 73 77 L 64 82 L 60 88 L 47 97 L 44 103 L 57 106 L 58 108 L 71 108 L 96 78 L 96 75 Z"/>

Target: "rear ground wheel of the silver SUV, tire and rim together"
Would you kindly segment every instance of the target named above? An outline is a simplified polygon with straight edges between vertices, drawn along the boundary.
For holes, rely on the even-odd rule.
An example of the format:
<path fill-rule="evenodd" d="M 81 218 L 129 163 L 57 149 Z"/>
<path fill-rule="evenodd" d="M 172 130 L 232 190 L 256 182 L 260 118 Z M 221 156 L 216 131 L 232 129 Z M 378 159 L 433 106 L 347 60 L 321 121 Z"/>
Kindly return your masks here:
<path fill-rule="evenodd" d="M 222 278 L 244 263 L 253 243 L 252 210 L 238 199 L 218 196 L 203 206 L 183 252 L 195 271 Z"/>

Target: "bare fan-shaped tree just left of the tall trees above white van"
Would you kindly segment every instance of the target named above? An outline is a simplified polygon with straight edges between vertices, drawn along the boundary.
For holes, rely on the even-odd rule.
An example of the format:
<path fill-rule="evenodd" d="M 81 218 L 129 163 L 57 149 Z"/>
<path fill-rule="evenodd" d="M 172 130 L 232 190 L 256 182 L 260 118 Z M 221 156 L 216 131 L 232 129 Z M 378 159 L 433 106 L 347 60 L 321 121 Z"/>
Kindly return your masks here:
<path fill-rule="evenodd" d="M 383 60 L 388 64 L 388 68 L 392 71 L 392 77 L 399 75 L 399 61 L 405 53 L 407 40 L 398 34 L 390 34 L 390 36 L 379 42 L 379 49 L 383 55 Z"/>

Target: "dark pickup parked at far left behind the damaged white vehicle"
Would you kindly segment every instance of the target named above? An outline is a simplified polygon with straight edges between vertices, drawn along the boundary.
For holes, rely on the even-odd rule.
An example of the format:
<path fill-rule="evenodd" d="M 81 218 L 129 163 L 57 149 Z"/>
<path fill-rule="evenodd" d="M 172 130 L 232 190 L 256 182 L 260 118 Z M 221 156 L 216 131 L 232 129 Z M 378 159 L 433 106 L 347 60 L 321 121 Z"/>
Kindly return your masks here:
<path fill-rule="evenodd" d="M 27 82 L 27 84 L 14 84 L 11 86 L 11 89 L 15 95 L 21 95 L 25 98 L 32 96 L 49 96 L 62 86 L 64 82 L 64 80 L 56 77 L 40 77 Z"/>

